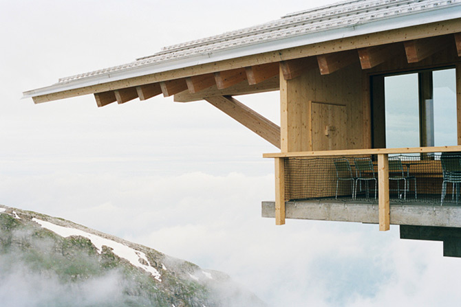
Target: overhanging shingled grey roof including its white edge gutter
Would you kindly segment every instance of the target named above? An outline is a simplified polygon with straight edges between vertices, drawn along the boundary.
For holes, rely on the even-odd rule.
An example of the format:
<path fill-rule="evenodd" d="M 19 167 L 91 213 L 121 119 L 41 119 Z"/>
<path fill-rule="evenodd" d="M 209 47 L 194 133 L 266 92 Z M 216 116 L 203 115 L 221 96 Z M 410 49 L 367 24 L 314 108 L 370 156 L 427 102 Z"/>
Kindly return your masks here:
<path fill-rule="evenodd" d="M 56 84 L 25 91 L 34 98 L 212 62 L 275 52 L 340 38 L 350 38 L 451 19 L 460 19 L 461 0 L 342 1 L 288 14 L 242 30 L 165 47 L 136 61 L 61 78 Z"/>

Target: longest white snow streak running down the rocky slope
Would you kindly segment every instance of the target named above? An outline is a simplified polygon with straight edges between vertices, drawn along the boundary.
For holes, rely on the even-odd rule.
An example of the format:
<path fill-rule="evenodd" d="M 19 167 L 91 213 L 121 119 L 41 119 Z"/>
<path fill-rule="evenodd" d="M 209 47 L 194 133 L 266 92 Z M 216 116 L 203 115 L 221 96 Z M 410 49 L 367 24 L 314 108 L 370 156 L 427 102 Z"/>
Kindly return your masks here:
<path fill-rule="evenodd" d="M 111 248 L 112 252 L 118 255 L 118 257 L 126 259 L 133 264 L 133 266 L 137 266 L 138 268 L 151 273 L 156 280 L 162 282 L 162 275 L 160 275 L 160 273 L 151 266 L 149 260 L 147 260 L 146 254 L 142 251 L 136 251 L 135 249 L 127 247 L 122 243 L 115 242 L 114 240 L 109 240 L 101 236 L 96 236 L 94 234 L 89 234 L 88 232 L 80 229 L 59 226 L 46 222 L 45 220 L 39 220 L 38 218 L 32 218 L 32 220 L 41 225 L 41 227 L 53 231 L 55 234 L 58 234 L 63 238 L 67 238 L 69 236 L 81 236 L 89 239 L 96 249 L 98 249 L 98 253 L 103 251 L 103 246 L 107 246 Z"/>

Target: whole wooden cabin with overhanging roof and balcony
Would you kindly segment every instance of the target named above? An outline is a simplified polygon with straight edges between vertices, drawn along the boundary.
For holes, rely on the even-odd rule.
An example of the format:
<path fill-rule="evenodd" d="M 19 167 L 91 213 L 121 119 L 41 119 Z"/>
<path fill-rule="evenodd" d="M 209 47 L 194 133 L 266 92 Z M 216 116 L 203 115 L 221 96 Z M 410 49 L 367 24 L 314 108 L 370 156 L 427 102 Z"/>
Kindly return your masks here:
<path fill-rule="evenodd" d="M 461 166 L 446 170 L 443 156 L 461 152 L 460 56 L 461 0 L 350 0 L 23 94 L 91 94 L 100 107 L 205 100 L 280 149 L 264 154 L 276 199 L 262 203 L 277 225 L 400 225 L 403 238 L 443 240 L 445 255 L 461 256 Z M 236 99 L 266 91 L 280 92 L 280 126 Z"/>

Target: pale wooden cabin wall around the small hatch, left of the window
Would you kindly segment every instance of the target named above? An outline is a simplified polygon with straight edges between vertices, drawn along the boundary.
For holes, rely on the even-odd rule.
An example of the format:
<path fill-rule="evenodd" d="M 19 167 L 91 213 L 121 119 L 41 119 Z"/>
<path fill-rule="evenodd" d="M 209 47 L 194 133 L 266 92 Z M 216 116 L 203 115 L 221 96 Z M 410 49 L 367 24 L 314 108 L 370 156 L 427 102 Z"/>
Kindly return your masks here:
<path fill-rule="evenodd" d="M 325 76 L 312 69 L 292 80 L 280 78 L 282 152 L 320 150 L 324 147 L 323 144 L 312 143 L 310 100 L 344 104 L 347 120 L 337 125 L 338 129 L 345 131 L 344 146 L 347 149 L 363 148 L 363 76 L 356 62 Z M 321 129 L 323 131 L 324 128 Z"/>

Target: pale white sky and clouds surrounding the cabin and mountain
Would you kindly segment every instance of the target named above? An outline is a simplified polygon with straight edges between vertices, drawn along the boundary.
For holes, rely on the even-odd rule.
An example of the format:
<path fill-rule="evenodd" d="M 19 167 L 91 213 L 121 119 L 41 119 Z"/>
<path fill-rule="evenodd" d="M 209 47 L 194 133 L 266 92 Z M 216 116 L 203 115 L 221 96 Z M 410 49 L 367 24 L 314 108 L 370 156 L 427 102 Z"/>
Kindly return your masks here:
<path fill-rule="evenodd" d="M 333 1 L 322 1 L 322 4 Z M 228 273 L 270 306 L 456 306 L 461 261 L 398 227 L 261 218 L 277 152 L 207 102 L 21 93 L 319 1 L 0 0 L 0 203 Z M 278 93 L 238 98 L 279 124 Z M 0 285 L 1 286 L 1 285 Z"/>

